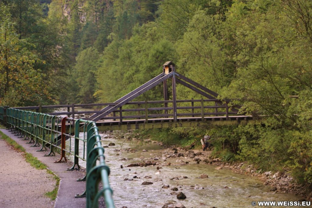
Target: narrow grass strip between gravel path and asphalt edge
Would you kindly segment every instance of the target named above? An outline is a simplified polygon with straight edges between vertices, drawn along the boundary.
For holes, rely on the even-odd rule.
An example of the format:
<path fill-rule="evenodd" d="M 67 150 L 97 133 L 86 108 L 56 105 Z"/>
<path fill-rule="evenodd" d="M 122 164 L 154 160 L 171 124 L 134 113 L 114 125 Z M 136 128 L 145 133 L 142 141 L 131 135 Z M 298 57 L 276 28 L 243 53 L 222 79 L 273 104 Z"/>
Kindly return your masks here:
<path fill-rule="evenodd" d="M 0 127 L 2 128 L 2 126 Z M 57 191 L 60 185 L 60 178 L 55 175 L 51 170 L 47 169 L 46 164 L 42 163 L 40 160 L 37 159 L 37 157 L 34 157 L 31 153 L 26 152 L 25 148 L 23 148 L 20 144 L 15 142 L 12 138 L 8 137 L 4 133 L 0 131 L 1 138 L 5 140 L 9 145 L 11 145 L 17 152 L 23 152 L 23 156 L 32 167 L 35 167 L 38 170 L 46 170 L 48 174 L 53 176 L 53 178 L 56 180 L 55 187 L 53 191 L 48 191 L 45 193 L 45 196 L 49 197 L 51 200 L 56 199 Z"/>

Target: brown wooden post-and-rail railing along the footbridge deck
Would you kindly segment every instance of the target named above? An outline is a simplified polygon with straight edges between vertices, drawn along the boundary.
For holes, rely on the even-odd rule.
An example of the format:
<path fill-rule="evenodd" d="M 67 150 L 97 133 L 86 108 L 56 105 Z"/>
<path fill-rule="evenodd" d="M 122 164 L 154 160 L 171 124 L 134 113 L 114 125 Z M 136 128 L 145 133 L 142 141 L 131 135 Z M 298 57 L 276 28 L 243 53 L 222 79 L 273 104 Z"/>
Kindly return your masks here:
<path fill-rule="evenodd" d="M 237 114 L 237 111 L 231 112 L 228 102 L 222 102 L 220 99 L 188 99 L 177 100 L 178 117 L 200 117 L 207 116 L 225 116 L 228 119 L 229 115 Z M 67 104 L 67 105 L 40 105 L 29 107 L 16 107 L 15 109 L 32 109 L 37 112 L 42 112 L 43 109 L 61 109 L 61 112 L 49 113 L 50 115 L 68 115 L 71 118 L 81 116 L 81 114 L 103 113 L 99 110 L 84 110 L 77 111 L 77 108 L 92 108 L 96 106 L 115 106 L 119 103 L 98 103 L 98 104 Z M 173 117 L 173 100 L 156 100 L 156 101 L 139 101 L 128 102 L 119 110 L 115 110 L 110 116 L 102 118 L 102 120 L 119 120 L 124 119 L 145 119 L 150 118 L 169 118 Z M 136 107 L 135 107 L 136 106 Z M 64 111 L 67 108 L 67 111 Z M 75 110 L 76 108 L 76 110 Z M 87 115 L 85 115 L 87 117 Z M 85 118 L 88 120 L 88 118 Z"/>

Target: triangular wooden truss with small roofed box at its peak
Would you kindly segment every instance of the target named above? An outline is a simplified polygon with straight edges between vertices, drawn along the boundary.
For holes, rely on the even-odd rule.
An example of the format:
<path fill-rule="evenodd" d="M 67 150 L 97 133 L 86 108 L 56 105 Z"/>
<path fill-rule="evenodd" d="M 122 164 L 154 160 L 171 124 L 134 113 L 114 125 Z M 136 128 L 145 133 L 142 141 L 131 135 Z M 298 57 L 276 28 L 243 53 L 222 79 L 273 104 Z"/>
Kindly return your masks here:
<path fill-rule="evenodd" d="M 177 102 L 176 102 L 176 83 L 182 84 L 189 89 L 201 94 L 202 96 L 208 99 L 217 99 L 218 94 L 197 82 L 180 75 L 175 71 L 175 65 L 171 61 L 167 61 L 163 65 L 163 73 L 154 77 L 153 79 L 149 80 L 145 84 L 139 86 L 137 89 L 134 89 L 132 92 L 126 94 L 122 98 L 116 100 L 114 103 L 115 105 L 108 105 L 105 108 L 101 109 L 103 113 L 95 113 L 89 117 L 92 121 L 98 121 L 103 119 L 105 116 L 109 115 L 110 113 L 116 111 L 124 104 L 130 102 L 131 100 L 137 98 L 139 95 L 143 94 L 144 92 L 152 89 L 156 85 L 163 82 L 163 90 L 164 90 L 164 99 L 168 100 L 168 88 L 167 88 L 167 79 L 172 79 L 172 97 L 173 97 L 173 121 L 177 121 Z M 167 103 L 165 103 L 167 104 Z M 166 106 L 165 106 L 166 107 Z"/>

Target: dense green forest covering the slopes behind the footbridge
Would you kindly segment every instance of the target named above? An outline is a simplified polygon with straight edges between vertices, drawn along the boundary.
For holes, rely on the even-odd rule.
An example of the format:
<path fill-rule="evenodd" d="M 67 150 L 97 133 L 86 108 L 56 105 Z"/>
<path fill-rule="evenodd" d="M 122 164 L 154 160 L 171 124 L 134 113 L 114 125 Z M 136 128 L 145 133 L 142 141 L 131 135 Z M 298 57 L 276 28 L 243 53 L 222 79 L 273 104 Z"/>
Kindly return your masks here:
<path fill-rule="evenodd" d="M 311 188 L 310 0 L 0 0 L 0 10 L 1 105 L 113 102 L 171 60 L 241 114 L 266 116 L 156 135 L 209 133 L 215 157 L 290 172 Z M 140 99 L 161 100 L 162 91 Z"/>

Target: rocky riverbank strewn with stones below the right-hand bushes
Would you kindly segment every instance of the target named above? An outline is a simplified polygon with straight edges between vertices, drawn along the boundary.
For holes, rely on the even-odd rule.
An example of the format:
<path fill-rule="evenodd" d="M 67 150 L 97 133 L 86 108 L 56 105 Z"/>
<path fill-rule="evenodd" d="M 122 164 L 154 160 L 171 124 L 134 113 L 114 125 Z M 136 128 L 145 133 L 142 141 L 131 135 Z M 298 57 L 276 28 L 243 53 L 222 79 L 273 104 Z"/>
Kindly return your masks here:
<path fill-rule="evenodd" d="M 139 135 L 134 135 L 131 132 L 106 132 L 110 134 L 110 137 L 114 137 L 121 140 L 134 140 L 140 141 Z M 137 138 L 136 138 L 137 137 Z M 152 141 L 150 139 L 143 140 L 147 143 L 153 143 L 164 145 L 158 141 Z M 132 149 L 121 149 L 121 151 L 137 151 L 135 148 Z M 300 200 L 311 201 L 311 193 L 306 189 L 306 187 L 299 185 L 293 181 L 293 178 L 288 173 L 281 172 L 262 172 L 257 170 L 253 165 L 248 165 L 247 162 L 222 162 L 219 158 L 211 158 L 211 152 L 202 152 L 202 150 L 187 150 L 174 146 L 166 146 L 166 149 L 162 151 L 161 158 L 141 158 L 145 162 L 149 159 L 148 163 L 138 163 L 129 165 L 145 166 L 149 164 L 154 164 L 157 166 L 168 166 L 168 165 L 191 165 L 191 164 L 209 164 L 216 166 L 218 169 L 230 169 L 237 173 L 242 173 L 248 176 L 253 176 L 259 178 L 264 185 L 271 186 L 270 191 L 272 193 L 292 193 L 300 196 Z M 174 162 L 168 163 L 168 158 L 175 158 Z M 154 160 L 156 159 L 156 161 Z M 126 160 L 126 158 L 125 158 Z M 152 161 L 152 163 L 151 163 Z"/>

